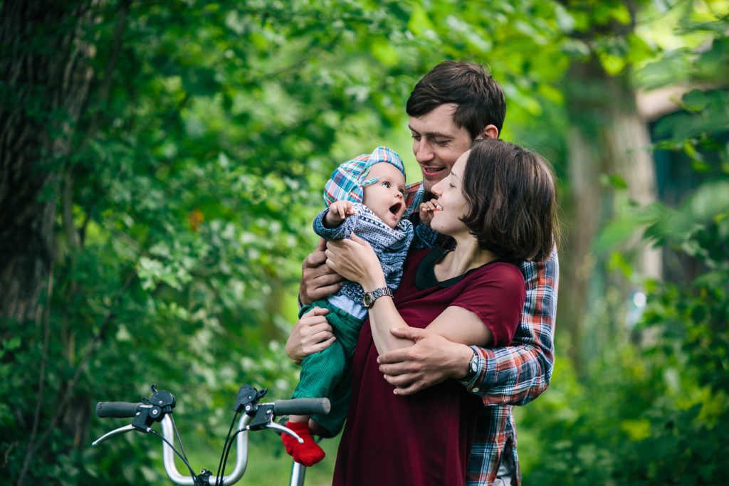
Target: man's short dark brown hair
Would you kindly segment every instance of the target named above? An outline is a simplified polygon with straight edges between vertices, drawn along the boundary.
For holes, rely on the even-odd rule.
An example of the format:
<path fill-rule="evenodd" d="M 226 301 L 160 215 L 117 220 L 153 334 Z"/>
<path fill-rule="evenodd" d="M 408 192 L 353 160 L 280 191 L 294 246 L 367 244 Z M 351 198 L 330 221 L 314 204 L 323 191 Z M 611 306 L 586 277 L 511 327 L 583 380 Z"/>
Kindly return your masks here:
<path fill-rule="evenodd" d="M 466 128 L 471 139 L 488 125 L 501 133 L 506 101 L 499 83 L 480 64 L 446 60 L 432 68 L 413 88 L 405 109 L 421 117 L 445 103 L 456 103 L 453 122 Z"/>

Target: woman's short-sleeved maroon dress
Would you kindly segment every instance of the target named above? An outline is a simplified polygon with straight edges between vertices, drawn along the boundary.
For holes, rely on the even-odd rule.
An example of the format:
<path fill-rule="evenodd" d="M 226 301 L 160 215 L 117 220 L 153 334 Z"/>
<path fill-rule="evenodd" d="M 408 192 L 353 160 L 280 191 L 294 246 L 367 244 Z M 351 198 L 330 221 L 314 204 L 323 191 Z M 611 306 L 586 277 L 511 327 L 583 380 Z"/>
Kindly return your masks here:
<path fill-rule="evenodd" d="M 424 328 L 446 307 L 457 305 L 480 315 L 496 345 L 507 345 L 524 304 L 521 270 L 491 262 L 452 286 L 421 290 L 415 274 L 428 252 L 411 251 L 405 260 L 394 296 L 405 322 Z M 378 369 L 377 356 L 368 319 L 354 352 L 352 399 L 332 484 L 463 485 L 481 399 L 456 380 L 413 396 L 395 396 Z"/>

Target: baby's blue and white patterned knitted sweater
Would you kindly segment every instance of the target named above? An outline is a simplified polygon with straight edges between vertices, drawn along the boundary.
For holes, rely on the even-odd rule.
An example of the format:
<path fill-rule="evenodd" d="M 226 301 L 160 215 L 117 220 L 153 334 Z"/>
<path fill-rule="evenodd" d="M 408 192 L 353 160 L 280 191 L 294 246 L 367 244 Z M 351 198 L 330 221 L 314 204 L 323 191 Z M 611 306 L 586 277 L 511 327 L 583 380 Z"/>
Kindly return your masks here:
<path fill-rule="evenodd" d="M 314 219 L 314 232 L 325 240 L 349 238 L 354 232 L 370 243 L 380 259 L 387 286 L 394 293 L 402 277 L 402 264 L 405 263 L 405 256 L 413 241 L 413 224 L 408 219 L 402 219 L 397 227 L 391 228 L 362 203 L 352 203 L 352 208 L 354 214 L 333 228 L 324 227 L 324 216 L 329 208 L 324 209 Z M 354 305 L 364 307 L 364 289 L 356 282 L 344 281 L 340 291 L 330 296 L 330 301 L 332 297 L 346 297 Z"/>

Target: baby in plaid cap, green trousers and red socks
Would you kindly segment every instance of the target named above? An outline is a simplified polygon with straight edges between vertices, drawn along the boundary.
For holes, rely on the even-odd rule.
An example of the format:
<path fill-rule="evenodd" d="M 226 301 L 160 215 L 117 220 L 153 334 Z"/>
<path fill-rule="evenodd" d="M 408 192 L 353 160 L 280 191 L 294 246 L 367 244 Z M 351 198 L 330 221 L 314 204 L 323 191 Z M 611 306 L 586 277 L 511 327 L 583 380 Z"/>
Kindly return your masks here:
<path fill-rule="evenodd" d="M 351 394 L 350 361 L 367 318 L 367 307 L 377 297 L 391 295 L 402 277 L 402 264 L 413 240 L 413 224 L 402 219 L 405 213 L 405 168 L 399 155 L 383 146 L 372 154 L 348 160 L 332 173 L 324 186 L 324 200 L 329 205 L 316 216 L 314 231 L 326 240 L 349 238 L 355 232 L 367 240 L 380 259 L 387 287 L 364 293 L 359 283 L 345 281 L 342 289 L 327 299 L 303 307 L 299 316 L 313 307 L 328 309 L 335 342 L 301 363 L 300 381 L 293 398 L 330 399 L 328 415 L 312 417 L 327 435 L 340 431 L 347 415 Z M 324 458 L 324 451 L 313 441 L 308 415 L 292 415 L 286 426 L 303 440 L 299 444 L 288 434 L 281 437 L 286 452 L 304 466 L 313 466 Z"/>

